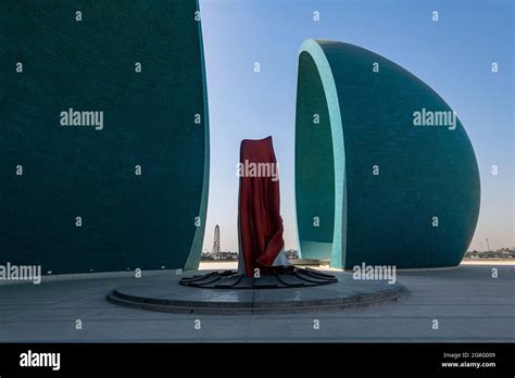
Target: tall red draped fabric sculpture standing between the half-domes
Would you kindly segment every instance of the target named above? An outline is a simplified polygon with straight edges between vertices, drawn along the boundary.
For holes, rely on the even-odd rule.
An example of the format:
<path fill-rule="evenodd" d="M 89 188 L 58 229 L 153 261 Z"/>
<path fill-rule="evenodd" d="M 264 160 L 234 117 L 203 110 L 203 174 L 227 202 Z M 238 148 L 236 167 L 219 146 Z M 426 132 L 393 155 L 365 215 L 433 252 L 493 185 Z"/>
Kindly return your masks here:
<path fill-rule="evenodd" d="M 254 174 L 261 174 L 261 177 L 249 177 L 252 175 L 252 163 L 256 167 Z M 271 175 L 263 177 L 266 169 L 269 174 L 275 172 L 277 179 Z M 238 227 L 247 277 L 252 277 L 256 267 L 262 275 L 277 270 L 272 264 L 285 245 L 278 178 L 272 137 L 241 141 Z"/>

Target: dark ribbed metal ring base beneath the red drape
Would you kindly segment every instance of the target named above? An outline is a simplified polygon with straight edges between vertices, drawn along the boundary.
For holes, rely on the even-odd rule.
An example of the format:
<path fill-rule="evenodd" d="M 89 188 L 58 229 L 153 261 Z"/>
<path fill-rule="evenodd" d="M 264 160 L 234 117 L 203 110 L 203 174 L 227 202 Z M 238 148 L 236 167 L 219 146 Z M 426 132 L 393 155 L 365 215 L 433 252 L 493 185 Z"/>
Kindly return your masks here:
<path fill-rule="evenodd" d="M 335 282 L 338 282 L 338 278 L 332 275 L 298 267 L 276 276 L 253 278 L 241 276 L 236 270 L 221 270 L 184 277 L 179 281 L 184 286 L 205 289 L 286 289 L 306 288 Z"/>

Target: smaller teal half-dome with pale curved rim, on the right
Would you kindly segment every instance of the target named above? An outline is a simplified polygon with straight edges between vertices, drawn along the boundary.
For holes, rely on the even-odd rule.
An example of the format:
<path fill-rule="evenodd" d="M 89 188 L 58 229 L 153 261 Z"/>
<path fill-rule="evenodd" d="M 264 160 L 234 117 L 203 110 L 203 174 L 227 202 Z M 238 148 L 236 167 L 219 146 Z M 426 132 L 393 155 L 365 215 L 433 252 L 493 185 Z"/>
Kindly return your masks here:
<path fill-rule="evenodd" d="M 419 125 L 420 114 L 448 123 Z M 304 259 L 348 269 L 457 266 L 479 200 L 472 143 L 437 92 L 360 47 L 302 45 L 296 202 Z"/>

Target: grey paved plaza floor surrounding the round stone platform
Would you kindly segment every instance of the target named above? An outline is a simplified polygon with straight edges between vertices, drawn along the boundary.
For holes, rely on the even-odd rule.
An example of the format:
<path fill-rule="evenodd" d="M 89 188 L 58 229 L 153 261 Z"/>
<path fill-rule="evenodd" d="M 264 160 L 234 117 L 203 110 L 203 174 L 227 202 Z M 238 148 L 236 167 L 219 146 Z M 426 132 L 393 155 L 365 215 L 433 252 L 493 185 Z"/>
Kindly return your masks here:
<path fill-rule="evenodd" d="M 156 313 L 105 300 L 110 290 L 136 278 L 10 285 L 0 287 L 0 342 L 514 342 L 514 270 L 513 264 L 492 262 L 398 272 L 410 290 L 398 302 L 263 315 Z"/>

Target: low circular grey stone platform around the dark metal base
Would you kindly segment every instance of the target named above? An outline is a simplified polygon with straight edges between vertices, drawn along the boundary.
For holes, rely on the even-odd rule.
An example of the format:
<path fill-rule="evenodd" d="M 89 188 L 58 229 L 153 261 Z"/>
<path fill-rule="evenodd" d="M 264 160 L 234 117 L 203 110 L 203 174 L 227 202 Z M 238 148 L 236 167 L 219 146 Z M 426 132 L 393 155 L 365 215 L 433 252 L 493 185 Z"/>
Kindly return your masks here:
<path fill-rule="evenodd" d="M 352 274 L 344 272 L 327 272 L 338 279 L 337 282 L 330 285 L 280 290 L 198 288 L 179 284 L 181 278 L 199 274 L 205 274 L 205 272 L 188 272 L 183 276 L 135 278 L 135 282 L 114 289 L 106 299 L 118 305 L 159 312 L 253 314 L 314 312 L 361 306 L 397 300 L 407 292 L 407 289 L 400 284 L 354 280 Z"/>

